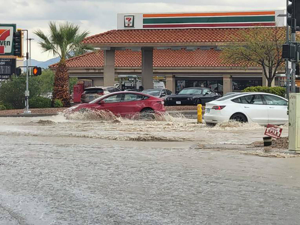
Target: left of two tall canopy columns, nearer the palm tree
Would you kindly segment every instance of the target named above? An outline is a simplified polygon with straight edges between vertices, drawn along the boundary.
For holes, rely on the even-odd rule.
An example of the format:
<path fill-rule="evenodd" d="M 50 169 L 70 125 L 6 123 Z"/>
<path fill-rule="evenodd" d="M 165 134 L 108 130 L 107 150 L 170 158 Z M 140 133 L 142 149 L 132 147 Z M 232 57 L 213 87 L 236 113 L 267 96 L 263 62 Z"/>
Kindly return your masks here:
<path fill-rule="evenodd" d="M 115 49 L 104 50 L 103 85 L 115 84 Z"/>

